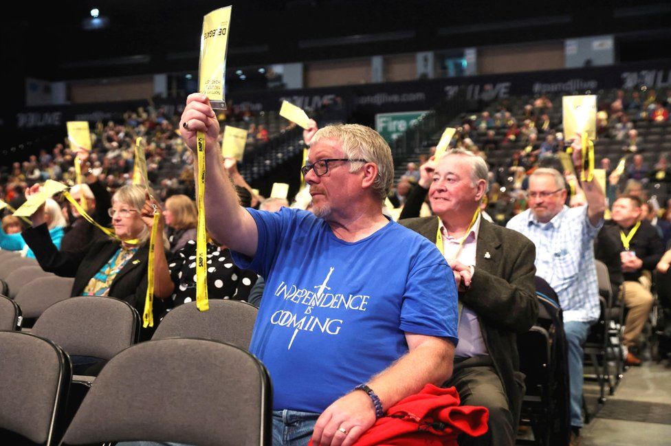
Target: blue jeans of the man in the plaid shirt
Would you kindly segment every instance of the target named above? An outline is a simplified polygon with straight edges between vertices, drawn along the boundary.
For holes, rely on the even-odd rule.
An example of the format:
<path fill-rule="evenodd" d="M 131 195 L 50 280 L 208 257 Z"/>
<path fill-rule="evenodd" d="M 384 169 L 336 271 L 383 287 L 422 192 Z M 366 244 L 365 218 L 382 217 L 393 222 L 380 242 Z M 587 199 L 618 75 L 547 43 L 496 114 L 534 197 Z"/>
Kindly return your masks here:
<path fill-rule="evenodd" d="M 582 344 L 585 343 L 591 324 L 587 322 L 564 322 L 566 344 L 568 344 L 569 388 L 571 390 L 571 426 L 582 427 Z"/>

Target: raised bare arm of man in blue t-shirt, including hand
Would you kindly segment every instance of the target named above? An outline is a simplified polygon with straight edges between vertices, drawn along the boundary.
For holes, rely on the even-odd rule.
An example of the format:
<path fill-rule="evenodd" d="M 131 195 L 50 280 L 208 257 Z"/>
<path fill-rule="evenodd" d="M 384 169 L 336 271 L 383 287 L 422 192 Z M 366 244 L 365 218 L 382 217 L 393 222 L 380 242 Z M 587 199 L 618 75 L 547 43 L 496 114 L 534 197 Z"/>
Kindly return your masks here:
<path fill-rule="evenodd" d="M 259 234 L 252 216 L 241 207 L 230 178 L 223 168 L 221 150 L 217 143 L 219 122 L 210 107 L 210 100 L 193 93 L 186 100 L 181 115 L 181 136 L 197 156 L 197 132 L 205 133 L 205 209 L 206 225 L 213 238 L 246 256 L 256 254 Z M 194 161 L 196 187 L 200 172 Z"/>

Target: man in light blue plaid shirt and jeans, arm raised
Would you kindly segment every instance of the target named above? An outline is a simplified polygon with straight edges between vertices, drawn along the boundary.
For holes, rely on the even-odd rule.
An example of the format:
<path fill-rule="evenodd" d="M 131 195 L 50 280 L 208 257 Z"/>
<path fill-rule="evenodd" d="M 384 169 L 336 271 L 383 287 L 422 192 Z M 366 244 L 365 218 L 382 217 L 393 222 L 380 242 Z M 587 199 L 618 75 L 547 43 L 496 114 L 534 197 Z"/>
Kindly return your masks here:
<path fill-rule="evenodd" d="M 593 241 L 604 222 L 606 199 L 596 181 L 582 183 L 587 205 L 568 208 L 566 184 L 554 169 L 539 168 L 529 177 L 530 209 L 507 227 L 536 244 L 536 273 L 560 298 L 569 344 L 571 427 L 574 443 L 582 421 L 582 344 L 599 319 L 599 289 Z"/>

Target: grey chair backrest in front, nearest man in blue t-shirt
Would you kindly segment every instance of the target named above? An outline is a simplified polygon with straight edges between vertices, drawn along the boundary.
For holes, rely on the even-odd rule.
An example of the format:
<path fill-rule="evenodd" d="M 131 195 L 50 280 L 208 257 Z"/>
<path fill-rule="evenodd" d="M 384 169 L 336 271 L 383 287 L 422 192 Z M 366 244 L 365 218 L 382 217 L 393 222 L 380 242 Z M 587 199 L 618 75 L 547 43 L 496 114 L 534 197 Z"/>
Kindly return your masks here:
<path fill-rule="evenodd" d="M 102 369 L 63 443 L 270 444 L 271 401 L 267 370 L 241 348 L 207 339 L 141 342 Z"/>

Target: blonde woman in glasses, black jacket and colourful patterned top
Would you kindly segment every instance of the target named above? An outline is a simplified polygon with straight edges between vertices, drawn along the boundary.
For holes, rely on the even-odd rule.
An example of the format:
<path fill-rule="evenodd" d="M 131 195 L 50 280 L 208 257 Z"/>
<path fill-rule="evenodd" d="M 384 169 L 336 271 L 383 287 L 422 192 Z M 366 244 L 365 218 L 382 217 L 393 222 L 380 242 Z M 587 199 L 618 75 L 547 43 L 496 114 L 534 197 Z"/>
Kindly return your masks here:
<path fill-rule="evenodd" d="M 30 190 L 36 193 L 39 188 Z M 154 209 L 161 208 L 140 186 L 123 186 L 112 197 L 109 215 L 115 238 L 93 241 L 79 251 L 59 252 L 47 234 L 44 214 L 37 210 L 30 219 L 32 227 L 23 232 L 26 243 L 35 252 L 42 269 L 57 276 L 74 277 L 72 296 L 111 296 L 125 300 L 142 314 L 147 290 L 148 240 L 153 226 Z M 159 218 L 155 241 L 154 315 L 162 313 L 160 300 L 173 293 L 164 247 L 164 219 Z M 151 329 L 141 331 L 142 339 Z"/>

